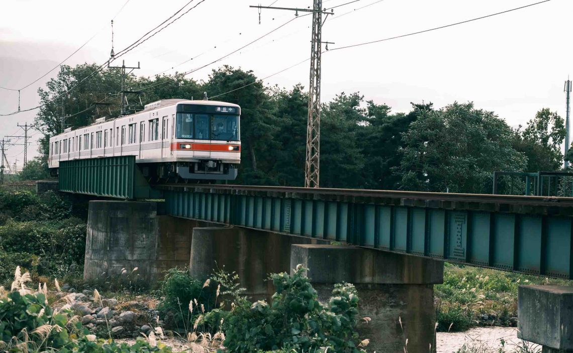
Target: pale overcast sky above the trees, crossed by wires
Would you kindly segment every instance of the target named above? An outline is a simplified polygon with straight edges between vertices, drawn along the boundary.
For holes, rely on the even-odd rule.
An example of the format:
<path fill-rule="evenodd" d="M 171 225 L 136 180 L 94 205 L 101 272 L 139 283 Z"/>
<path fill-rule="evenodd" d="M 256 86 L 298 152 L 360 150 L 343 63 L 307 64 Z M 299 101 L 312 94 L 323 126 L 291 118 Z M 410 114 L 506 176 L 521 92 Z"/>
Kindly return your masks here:
<path fill-rule="evenodd" d="M 261 0 L 259 0 L 261 1 Z M 568 35 L 573 1 L 551 0 L 494 17 L 393 39 L 529 5 L 536 0 L 323 0 L 336 7 L 322 29 L 323 41 L 334 42 L 322 57 L 321 101 L 359 91 L 366 100 L 386 103 L 394 112 L 410 111 L 411 102 L 443 107 L 454 101 L 474 102 L 494 111 L 512 127 L 525 125 L 548 107 L 565 116 L 563 83 L 573 74 Z M 539 1 L 539 0 L 537 0 Z M 113 19 L 116 53 L 162 23 L 189 0 L 2 0 L 0 12 L 0 86 L 21 89 L 65 61 L 102 64 L 111 50 Z M 274 3 L 273 3 L 274 2 Z M 343 5 L 346 4 L 347 5 Z M 312 6 L 312 0 L 266 0 L 262 6 Z M 257 9 L 248 0 L 194 0 L 195 7 L 172 25 L 113 63 L 137 66 L 134 73 L 154 76 L 189 71 L 276 29 L 295 18 L 293 11 Z M 339 6 L 343 5 L 343 6 Z M 303 14 L 303 13 L 300 13 Z M 268 85 L 308 87 L 312 16 L 299 16 L 213 65 L 188 77 L 207 79 L 222 65 L 253 70 Z M 92 38 L 93 37 L 93 38 Z M 193 60 L 189 60 L 193 58 Z M 188 61 L 181 64 L 182 62 Z M 167 70 L 167 71 L 166 71 Z M 38 87 L 58 69 L 21 91 L 21 109 L 38 105 Z M 276 74 L 276 75 L 273 75 Z M 219 92 L 210 92 L 213 96 Z M 189 97 L 182 97 L 189 98 Z M 18 109 L 18 93 L 0 89 L 0 114 Z M 0 139 L 23 133 L 17 124 L 34 121 L 36 111 L 0 117 Z M 37 155 L 37 131 L 28 159 Z M 12 139 L 22 143 L 23 139 Z M 10 146 L 10 163 L 23 162 L 23 146 Z"/>

